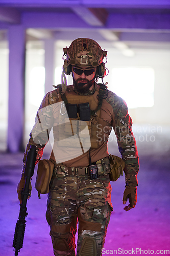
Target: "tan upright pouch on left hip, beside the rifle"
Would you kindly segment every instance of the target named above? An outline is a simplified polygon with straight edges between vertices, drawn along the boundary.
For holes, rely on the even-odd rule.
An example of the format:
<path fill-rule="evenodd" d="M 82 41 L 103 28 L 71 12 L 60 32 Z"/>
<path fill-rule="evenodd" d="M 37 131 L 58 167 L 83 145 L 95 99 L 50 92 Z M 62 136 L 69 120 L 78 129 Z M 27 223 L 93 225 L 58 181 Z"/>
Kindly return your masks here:
<path fill-rule="evenodd" d="M 37 177 L 35 188 L 39 194 L 49 192 L 49 184 L 53 175 L 54 163 L 48 159 L 42 159 L 38 162 Z"/>

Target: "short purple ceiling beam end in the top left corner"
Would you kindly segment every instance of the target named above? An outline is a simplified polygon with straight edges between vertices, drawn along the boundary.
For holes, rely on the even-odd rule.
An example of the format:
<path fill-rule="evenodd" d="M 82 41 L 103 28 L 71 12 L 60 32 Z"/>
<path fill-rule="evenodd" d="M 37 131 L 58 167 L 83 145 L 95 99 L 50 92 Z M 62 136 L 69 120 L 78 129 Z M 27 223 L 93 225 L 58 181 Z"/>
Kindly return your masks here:
<path fill-rule="evenodd" d="M 19 11 L 8 8 L 8 7 L 0 7 L 0 21 L 6 23 L 20 23 L 20 13 Z"/>

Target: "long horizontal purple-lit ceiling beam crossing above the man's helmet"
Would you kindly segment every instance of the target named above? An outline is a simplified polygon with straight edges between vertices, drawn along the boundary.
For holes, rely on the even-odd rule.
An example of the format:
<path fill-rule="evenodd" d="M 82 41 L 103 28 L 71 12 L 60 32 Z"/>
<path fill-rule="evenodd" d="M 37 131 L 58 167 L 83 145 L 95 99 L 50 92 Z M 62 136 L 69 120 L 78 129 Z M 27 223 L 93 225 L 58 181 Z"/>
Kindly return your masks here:
<path fill-rule="evenodd" d="M 22 24 L 26 28 L 44 29 L 96 28 L 94 25 L 87 24 L 76 13 L 26 12 L 22 13 Z M 114 31 L 125 31 L 125 29 L 170 30 L 170 14 L 110 14 L 106 25 L 101 28 Z"/>

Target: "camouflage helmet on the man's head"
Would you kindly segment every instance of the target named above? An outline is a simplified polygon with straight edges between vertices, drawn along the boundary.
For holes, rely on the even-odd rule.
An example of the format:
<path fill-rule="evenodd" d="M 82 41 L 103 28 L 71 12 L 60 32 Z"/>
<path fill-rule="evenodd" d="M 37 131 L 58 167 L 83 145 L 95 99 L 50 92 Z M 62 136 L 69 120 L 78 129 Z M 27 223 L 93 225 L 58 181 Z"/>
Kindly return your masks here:
<path fill-rule="evenodd" d="M 107 51 L 103 51 L 100 45 L 89 38 L 78 38 L 71 42 L 69 48 L 64 48 L 63 70 L 65 74 L 70 74 L 69 65 L 77 67 L 98 67 L 102 64 Z"/>

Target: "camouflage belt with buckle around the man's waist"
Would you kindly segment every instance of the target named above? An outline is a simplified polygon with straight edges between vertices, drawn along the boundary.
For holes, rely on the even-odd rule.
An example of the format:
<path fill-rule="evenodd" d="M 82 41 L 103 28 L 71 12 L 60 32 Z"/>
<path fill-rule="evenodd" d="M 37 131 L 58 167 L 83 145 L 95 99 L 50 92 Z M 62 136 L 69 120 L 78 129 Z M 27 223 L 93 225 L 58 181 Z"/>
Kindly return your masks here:
<path fill-rule="evenodd" d="M 96 165 L 98 165 L 98 173 L 103 174 L 104 168 L 102 163 L 96 162 Z M 65 167 L 57 165 L 54 167 L 53 170 L 53 177 L 63 177 L 66 175 L 75 175 L 75 176 L 89 176 L 89 167 Z"/>

